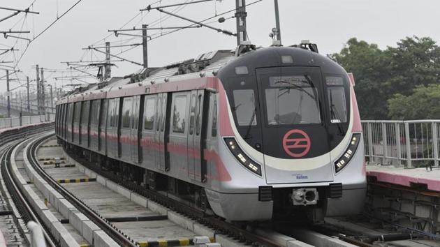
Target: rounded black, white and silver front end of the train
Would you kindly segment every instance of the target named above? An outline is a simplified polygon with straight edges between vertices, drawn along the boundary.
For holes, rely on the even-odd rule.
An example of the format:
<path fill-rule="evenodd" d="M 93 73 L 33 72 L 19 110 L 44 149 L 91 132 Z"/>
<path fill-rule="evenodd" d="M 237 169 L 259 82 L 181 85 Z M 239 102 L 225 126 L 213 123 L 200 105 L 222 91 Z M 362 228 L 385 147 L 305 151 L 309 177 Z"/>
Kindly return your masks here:
<path fill-rule="evenodd" d="M 269 47 L 238 57 L 217 77 L 219 152 L 230 176 L 206 190 L 217 214 L 318 221 L 360 212 L 362 130 L 341 66 L 309 50 Z"/>

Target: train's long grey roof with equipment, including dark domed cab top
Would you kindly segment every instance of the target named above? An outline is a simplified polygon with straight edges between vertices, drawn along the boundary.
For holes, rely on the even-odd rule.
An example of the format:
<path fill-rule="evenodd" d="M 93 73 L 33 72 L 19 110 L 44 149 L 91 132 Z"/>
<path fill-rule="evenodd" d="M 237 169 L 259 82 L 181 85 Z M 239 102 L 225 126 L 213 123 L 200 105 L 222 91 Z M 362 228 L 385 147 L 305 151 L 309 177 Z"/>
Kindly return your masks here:
<path fill-rule="evenodd" d="M 258 52 L 253 52 L 258 50 Z M 244 52 L 243 52 L 244 51 Z M 243 54 L 242 54 L 243 52 Z M 265 59 L 261 59 L 261 55 Z M 112 77 L 104 82 L 89 84 L 87 87 L 75 89 L 68 96 L 61 98 L 58 103 L 66 103 L 67 101 L 73 102 L 78 100 L 93 99 L 95 96 L 92 94 L 100 95 L 101 97 L 105 93 L 111 91 L 117 91 L 122 88 L 131 88 L 138 86 L 149 86 L 152 84 L 161 84 L 166 82 L 175 82 L 180 80 L 189 80 L 200 77 L 217 77 L 220 69 L 230 63 L 230 68 L 221 70 L 221 74 L 231 73 L 230 70 L 240 64 L 246 64 L 249 67 L 249 71 L 253 71 L 253 68 L 265 64 L 265 66 L 282 66 L 281 55 L 294 54 L 295 58 L 293 63 L 295 66 L 321 66 L 325 68 L 331 68 L 334 70 L 343 70 L 342 67 L 337 65 L 328 57 L 325 57 L 316 52 L 310 52 L 300 48 L 293 47 L 270 47 L 270 48 L 258 48 L 253 45 L 240 45 L 236 50 L 215 50 L 212 52 L 206 52 L 200 54 L 193 59 L 187 59 L 185 61 L 179 61 L 170 63 L 167 66 L 160 68 L 142 68 L 138 72 L 125 77 Z M 114 94 L 114 93 L 111 93 Z"/>

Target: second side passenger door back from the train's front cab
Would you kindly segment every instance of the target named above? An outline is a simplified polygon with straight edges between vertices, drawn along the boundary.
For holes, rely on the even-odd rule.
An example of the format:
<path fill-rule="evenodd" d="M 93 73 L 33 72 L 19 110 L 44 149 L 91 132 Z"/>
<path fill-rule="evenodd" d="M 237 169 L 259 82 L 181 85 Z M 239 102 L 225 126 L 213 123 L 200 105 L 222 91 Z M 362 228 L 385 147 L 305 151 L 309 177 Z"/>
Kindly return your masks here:
<path fill-rule="evenodd" d="M 168 128 L 169 117 L 167 117 L 167 105 L 168 105 L 168 93 L 159 93 L 159 99 L 156 109 L 158 114 L 158 125 L 156 126 L 156 133 L 154 133 L 154 141 L 157 144 L 156 151 L 156 168 L 162 171 L 168 171 L 169 167 L 169 155 L 168 155 Z M 169 112 L 169 111 L 168 111 Z"/>

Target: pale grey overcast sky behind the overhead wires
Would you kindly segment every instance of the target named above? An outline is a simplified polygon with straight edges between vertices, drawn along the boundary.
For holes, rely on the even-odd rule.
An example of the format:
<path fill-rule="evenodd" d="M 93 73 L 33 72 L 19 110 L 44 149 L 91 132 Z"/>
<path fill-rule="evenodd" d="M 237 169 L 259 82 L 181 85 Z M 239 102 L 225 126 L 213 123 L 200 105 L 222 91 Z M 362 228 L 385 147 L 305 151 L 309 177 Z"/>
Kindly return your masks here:
<path fill-rule="evenodd" d="M 61 62 L 103 60 L 101 53 L 82 50 L 89 45 L 100 47 L 105 41 L 112 45 L 129 45 L 142 41 L 135 36 L 115 37 L 108 29 L 140 28 L 141 24 L 149 24 L 149 27 L 187 26 L 191 23 L 157 10 L 140 12 L 140 9 L 149 4 L 166 6 L 191 1 L 194 0 L 80 0 L 57 20 L 57 17 L 78 0 L 3 0 L 0 7 L 24 9 L 31 6 L 30 10 L 39 14 L 20 13 L 0 22 L 0 31 L 30 31 L 13 35 L 32 40 L 29 43 L 28 40 L 0 36 L 1 49 L 14 47 L 18 50 L 0 55 L 0 62 L 13 61 L 0 63 L 0 68 L 15 66 L 15 69 L 20 70 L 11 75 L 15 81 L 11 82 L 10 88 L 19 87 L 16 90 L 24 90 L 20 83 L 24 83 L 26 76 L 29 76 L 31 84 L 35 84 L 32 80 L 36 77 L 36 64 L 45 68 L 45 80 L 55 88 L 71 89 L 71 84 L 96 82 L 93 77 L 86 77 L 89 74 L 96 75 L 96 69 L 89 69 L 89 74 L 82 73 L 76 80 L 71 80 L 70 76 L 81 73 L 69 69 L 66 63 Z M 247 4 L 254 1 L 258 0 L 247 0 Z M 165 10 L 200 21 L 234 8 L 235 1 L 223 0 Z M 382 49 L 395 46 L 406 36 L 429 36 L 439 42 L 439 9 L 440 1 L 434 0 L 279 0 L 281 41 L 283 45 L 293 45 L 300 43 L 300 40 L 310 40 L 318 45 L 321 54 L 339 52 L 352 37 L 376 43 Z M 0 10 L 0 19 L 12 13 L 10 10 Z M 205 23 L 235 33 L 235 19 L 232 16 L 233 13 L 228 13 Z M 226 22 L 217 22 L 219 17 L 226 17 Z M 52 27 L 41 33 L 52 22 Z M 272 40 L 268 35 L 274 26 L 273 0 L 261 0 L 247 6 L 247 31 L 251 43 L 263 47 L 271 45 Z M 184 29 L 161 36 L 167 32 L 168 30 L 149 31 L 148 34 L 152 36 L 148 43 L 149 66 L 165 66 L 212 50 L 233 50 L 236 45 L 235 37 L 207 28 Z M 140 34 L 135 31 L 125 33 Z M 120 57 L 142 63 L 142 47 L 124 52 L 129 48 L 131 47 L 115 47 L 110 52 L 122 52 Z M 129 75 L 141 68 L 127 61 L 114 63 L 112 76 Z M 6 91 L 4 75 L 6 71 L 0 69 L 0 92 Z"/>

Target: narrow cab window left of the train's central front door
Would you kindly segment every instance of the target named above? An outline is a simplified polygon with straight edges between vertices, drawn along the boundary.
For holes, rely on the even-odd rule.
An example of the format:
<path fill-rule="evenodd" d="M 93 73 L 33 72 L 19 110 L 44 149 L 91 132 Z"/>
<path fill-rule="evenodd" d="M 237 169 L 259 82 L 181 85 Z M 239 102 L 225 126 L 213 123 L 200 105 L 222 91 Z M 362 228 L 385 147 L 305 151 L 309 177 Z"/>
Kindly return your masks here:
<path fill-rule="evenodd" d="M 235 116 L 239 126 L 256 126 L 254 90 L 239 89 L 233 91 Z"/>

